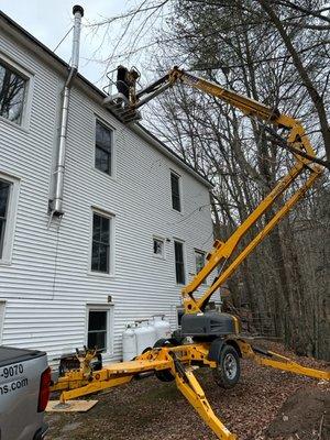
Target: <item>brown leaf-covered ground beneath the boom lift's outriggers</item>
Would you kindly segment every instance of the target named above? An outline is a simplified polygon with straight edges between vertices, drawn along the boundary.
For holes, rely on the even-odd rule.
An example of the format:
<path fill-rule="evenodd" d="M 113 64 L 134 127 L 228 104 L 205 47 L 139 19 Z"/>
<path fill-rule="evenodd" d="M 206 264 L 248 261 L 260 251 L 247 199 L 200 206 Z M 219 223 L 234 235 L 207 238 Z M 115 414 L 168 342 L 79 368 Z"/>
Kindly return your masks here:
<path fill-rule="evenodd" d="M 294 356 L 279 344 L 273 351 L 306 366 L 326 369 L 324 362 Z M 261 367 L 242 361 L 240 383 L 219 388 L 208 370 L 196 375 L 218 417 L 240 440 L 330 439 L 330 385 L 323 381 Z M 155 377 L 113 388 L 97 396 L 85 414 L 47 414 L 47 440 L 212 440 L 174 383 Z"/>

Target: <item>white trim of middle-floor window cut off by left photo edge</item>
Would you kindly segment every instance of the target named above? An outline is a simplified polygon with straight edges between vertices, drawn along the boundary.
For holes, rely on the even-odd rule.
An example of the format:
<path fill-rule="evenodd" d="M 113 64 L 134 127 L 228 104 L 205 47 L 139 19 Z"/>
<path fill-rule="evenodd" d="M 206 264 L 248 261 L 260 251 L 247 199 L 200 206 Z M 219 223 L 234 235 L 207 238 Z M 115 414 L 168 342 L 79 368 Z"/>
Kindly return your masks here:
<path fill-rule="evenodd" d="M 6 221 L 6 230 L 3 238 L 2 257 L 0 265 L 10 265 L 12 262 L 12 252 L 14 243 L 14 234 L 18 217 L 18 205 L 20 195 L 20 179 L 9 176 L 8 174 L 0 173 L 0 179 L 11 184 L 9 200 L 8 200 L 8 216 Z"/>

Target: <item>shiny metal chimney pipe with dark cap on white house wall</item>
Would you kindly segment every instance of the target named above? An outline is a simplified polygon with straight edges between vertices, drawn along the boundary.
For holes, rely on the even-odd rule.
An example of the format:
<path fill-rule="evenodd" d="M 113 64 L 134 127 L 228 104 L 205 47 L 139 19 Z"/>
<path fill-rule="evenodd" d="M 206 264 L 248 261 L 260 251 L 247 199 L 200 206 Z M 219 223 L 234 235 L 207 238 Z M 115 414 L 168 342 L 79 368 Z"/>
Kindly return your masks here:
<path fill-rule="evenodd" d="M 54 199 L 51 201 L 52 216 L 57 216 L 57 217 L 64 215 L 63 191 L 64 191 L 68 108 L 69 108 L 72 84 L 78 72 L 80 28 L 81 28 L 81 18 L 84 16 L 84 9 L 80 6 L 76 4 L 73 8 L 73 14 L 75 15 L 75 24 L 74 24 L 72 63 L 69 68 L 69 75 L 66 79 L 63 90 L 63 102 L 61 108 L 61 127 L 59 127 L 59 139 L 58 139 L 58 155 L 54 172 L 55 175 Z"/>

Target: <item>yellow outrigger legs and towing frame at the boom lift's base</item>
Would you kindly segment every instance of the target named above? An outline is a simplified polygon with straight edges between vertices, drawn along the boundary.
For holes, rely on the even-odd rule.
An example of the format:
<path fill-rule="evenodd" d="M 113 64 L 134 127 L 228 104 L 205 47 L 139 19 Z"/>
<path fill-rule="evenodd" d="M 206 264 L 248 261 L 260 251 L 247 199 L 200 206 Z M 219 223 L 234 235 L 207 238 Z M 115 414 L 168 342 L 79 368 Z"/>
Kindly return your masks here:
<path fill-rule="evenodd" d="M 249 359 L 258 365 L 330 381 L 330 372 L 305 367 L 280 354 L 253 346 L 242 338 L 237 338 L 232 342 L 237 343 L 243 359 Z M 177 388 L 218 439 L 235 440 L 238 437 L 231 433 L 213 413 L 193 373 L 194 363 L 211 369 L 217 367 L 217 363 L 208 359 L 208 343 L 162 346 L 141 354 L 134 361 L 112 363 L 103 365 L 100 371 L 92 371 L 90 360 L 94 353 L 91 352 L 81 359 L 80 370 L 68 371 L 58 378 L 51 391 L 62 392 L 59 407 L 62 406 L 62 410 L 66 410 L 66 408 L 70 410 L 67 400 L 128 384 L 141 373 L 155 372 L 156 375 L 158 373 L 158 375 L 169 375 L 169 380 L 175 380 Z"/>

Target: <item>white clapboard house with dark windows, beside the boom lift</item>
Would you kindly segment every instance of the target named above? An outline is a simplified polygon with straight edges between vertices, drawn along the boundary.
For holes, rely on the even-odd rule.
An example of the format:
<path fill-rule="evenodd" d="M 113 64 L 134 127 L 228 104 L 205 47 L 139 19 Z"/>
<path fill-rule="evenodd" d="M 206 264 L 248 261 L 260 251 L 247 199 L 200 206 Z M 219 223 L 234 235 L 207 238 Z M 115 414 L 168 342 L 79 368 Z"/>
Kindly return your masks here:
<path fill-rule="evenodd" d="M 105 94 L 73 82 L 63 216 L 54 216 L 68 65 L 0 13 L 0 342 L 50 359 L 95 344 L 119 360 L 134 319 L 176 326 L 212 243 L 210 184 Z"/>

